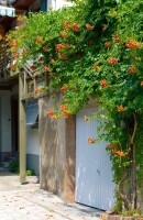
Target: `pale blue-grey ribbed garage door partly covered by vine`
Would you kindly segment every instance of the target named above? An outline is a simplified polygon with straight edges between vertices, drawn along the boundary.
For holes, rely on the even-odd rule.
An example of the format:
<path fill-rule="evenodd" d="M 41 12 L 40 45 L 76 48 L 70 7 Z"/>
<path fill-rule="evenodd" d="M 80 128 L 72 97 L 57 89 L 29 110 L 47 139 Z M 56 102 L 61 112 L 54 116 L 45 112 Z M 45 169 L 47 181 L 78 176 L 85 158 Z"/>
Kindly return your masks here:
<path fill-rule="evenodd" d="M 97 138 L 98 122 L 86 122 L 94 109 L 87 108 L 76 119 L 76 201 L 102 210 L 113 208 L 114 184 L 107 143 L 89 144 L 88 138 Z"/>

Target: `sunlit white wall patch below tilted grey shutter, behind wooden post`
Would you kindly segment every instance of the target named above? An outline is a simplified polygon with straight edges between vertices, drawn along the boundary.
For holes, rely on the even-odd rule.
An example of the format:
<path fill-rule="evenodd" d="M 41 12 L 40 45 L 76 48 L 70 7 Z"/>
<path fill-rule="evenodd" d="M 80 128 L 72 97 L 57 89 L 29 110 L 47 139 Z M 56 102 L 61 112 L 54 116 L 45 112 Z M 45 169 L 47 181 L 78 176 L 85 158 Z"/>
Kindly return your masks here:
<path fill-rule="evenodd" d="M 26 127 L 26 154 L 38 155 L 38 129 Z"/>

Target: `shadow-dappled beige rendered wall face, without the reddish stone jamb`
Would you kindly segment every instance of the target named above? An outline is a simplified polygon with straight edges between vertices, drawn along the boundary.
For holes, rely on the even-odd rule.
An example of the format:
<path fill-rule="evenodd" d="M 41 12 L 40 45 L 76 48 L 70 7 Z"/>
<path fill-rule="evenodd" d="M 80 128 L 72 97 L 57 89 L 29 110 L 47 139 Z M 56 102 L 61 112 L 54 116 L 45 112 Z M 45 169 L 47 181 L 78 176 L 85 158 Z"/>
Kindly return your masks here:
<path fill-rule="evenodd" d="M 66 170 L 65 120 L 53 120 L 46 116 L 46 109 L 54 108 L 52 98 L 41 98 L 38 106 L 41 187 L 64 198 Z"/>

